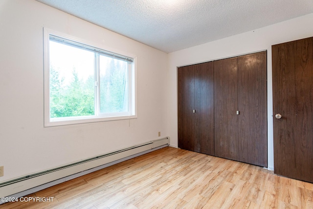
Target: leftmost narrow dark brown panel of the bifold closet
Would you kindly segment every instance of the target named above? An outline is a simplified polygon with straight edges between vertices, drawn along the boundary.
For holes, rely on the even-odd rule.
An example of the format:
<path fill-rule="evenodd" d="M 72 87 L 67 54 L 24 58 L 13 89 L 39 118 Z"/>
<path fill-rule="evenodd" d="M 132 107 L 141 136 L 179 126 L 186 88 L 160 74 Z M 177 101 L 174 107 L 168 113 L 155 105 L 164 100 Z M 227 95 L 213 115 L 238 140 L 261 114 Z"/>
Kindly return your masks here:
<path fill-rule="evenodd" d="M 194 69 L 192 66 L 178 69 L 178 147 L 191 150 L 194 139 Z"/>

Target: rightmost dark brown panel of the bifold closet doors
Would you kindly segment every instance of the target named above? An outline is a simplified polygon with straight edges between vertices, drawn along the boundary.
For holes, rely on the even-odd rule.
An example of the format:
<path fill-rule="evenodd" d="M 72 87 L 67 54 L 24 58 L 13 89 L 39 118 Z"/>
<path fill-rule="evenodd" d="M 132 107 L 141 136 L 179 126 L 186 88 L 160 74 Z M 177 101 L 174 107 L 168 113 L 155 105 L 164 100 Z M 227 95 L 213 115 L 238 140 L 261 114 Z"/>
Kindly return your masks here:
<path fill-rule="evenodd" d="M 267 52 L 238 57 L 239 161 L 268 166 Z"/>

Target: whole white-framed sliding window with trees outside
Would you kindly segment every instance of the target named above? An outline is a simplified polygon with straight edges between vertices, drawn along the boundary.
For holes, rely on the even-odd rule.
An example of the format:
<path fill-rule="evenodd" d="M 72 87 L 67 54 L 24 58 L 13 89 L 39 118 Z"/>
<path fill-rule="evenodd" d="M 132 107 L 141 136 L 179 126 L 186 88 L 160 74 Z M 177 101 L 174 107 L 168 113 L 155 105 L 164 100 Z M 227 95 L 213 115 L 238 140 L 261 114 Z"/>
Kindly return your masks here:
<path fill-rule="evenodd" d="M 134 118 L 134 58 L 45 29 L 45 126 Z"/>

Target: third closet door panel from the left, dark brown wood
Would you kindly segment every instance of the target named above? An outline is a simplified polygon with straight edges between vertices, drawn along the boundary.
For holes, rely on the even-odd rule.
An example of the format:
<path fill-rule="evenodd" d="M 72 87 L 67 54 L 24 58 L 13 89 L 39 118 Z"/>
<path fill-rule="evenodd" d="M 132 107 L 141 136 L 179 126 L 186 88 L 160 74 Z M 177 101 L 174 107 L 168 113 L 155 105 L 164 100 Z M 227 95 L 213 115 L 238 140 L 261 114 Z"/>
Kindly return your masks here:
<path fill-rule="evenodd" d="M 214 62 L 215 156 L 238 161 L 237 57 Z"/>

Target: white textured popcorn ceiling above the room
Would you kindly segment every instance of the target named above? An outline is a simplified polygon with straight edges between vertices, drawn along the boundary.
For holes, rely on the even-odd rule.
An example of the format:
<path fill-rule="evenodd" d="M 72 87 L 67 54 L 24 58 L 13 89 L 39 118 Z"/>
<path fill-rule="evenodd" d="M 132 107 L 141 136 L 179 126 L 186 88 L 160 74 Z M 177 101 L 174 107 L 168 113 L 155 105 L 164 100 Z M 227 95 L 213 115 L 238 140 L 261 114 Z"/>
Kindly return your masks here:
<path fill-rule="evenodd" d="M 164 52 L 313 12 L 313 0 L 37 1 Z"/>

